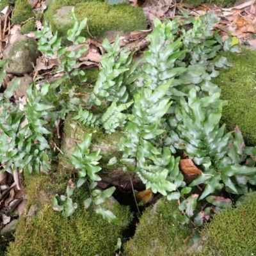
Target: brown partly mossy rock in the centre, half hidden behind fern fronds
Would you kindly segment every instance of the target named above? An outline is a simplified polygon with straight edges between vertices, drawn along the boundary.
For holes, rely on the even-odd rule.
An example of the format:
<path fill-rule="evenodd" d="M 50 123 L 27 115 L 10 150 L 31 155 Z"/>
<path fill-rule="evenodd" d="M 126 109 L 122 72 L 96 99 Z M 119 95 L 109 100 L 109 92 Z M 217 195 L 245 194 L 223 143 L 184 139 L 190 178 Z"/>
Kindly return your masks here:
<path fill-rule="evenodd" d="M 76 113 L 74 113 L 74 116 L 75 115 Z M 102 174 L 100 175 L 102 180 L 99 182 L 100 188 L 106 188 L 106 184 L 108 184 L 111 186 L 122 187 L 122 189 L 129 191 L 131 190 L 132 180 L 134 189 L 138 191 L 144 190 L 145 185 L 142 184 L 141 179 L 136 173 L 122 171 L 122 164 L 120 164 L 119 161 L 122 157 L 122 152 L 119 152 L 117 148 L 120 137 L 123 136 L 122 132 L 116 131 L 113 134 L 105 134 L 100 129 L 85 127 L 77 120 L 73 120 L 70 115 L 68 115 L 65 120 L 65 136 L 63 137 L 61 145 L 61 150 L 65 157 L 61 157 L 61 163 L 63 163 L 64 166 L 70 166 L 70 168 L 72 168 L 68 156 L 72 156 L 77 141 L 82 141 L 85 134 L 90 133 L 92 133 L 90 150 L 93 152 L 100 148 L 100 156 L 102 156 L 99 160 L 99 166 L 102 168 Z M 116 157 L 116 163 L 108 165 L 109 159 L 113 157 Z"/>

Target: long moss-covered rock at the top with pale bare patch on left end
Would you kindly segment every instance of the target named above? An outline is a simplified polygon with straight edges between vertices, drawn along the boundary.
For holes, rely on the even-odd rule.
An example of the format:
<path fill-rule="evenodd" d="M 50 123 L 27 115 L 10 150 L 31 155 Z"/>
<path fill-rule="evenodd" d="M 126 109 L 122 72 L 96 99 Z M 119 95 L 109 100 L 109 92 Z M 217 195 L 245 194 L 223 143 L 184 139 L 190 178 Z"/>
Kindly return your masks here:
<path fill-rule="evenodd" d="M 67 30 L 72 28 L 70 10 L 75 6 L 78 20 L 88 18 L 88 28 L 93 36 L 106 36 L 107 31 L 131 32 L 136 29 L 146 29 L 148 24 L 141 8 L 129 4 L 110 5 L 102 0 L 76 1 L 56 0 L 50 4 L 44 18 L 49 20 L 52 29 L 58 29 L 60 35 L 65 36 Z M 100 12 L 99 12 L 100 10 Z M 90 38 L 87 28 L 81 32 L 82 36 Z"/>

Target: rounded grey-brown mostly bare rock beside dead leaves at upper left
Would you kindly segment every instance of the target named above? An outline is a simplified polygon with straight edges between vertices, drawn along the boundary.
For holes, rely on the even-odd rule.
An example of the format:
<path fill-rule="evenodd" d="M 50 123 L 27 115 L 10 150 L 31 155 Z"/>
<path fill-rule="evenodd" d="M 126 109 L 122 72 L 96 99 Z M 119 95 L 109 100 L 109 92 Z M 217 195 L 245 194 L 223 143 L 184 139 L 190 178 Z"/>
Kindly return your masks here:
<path fill-rule="evenodd" d="M 3 52 L 3 58 L 7 60 L 6 73 L 25 74 L 33 71 L 31 63 L 36 63 L 39 54 L 36 40 L 26 35 L 20 36 Z"/>

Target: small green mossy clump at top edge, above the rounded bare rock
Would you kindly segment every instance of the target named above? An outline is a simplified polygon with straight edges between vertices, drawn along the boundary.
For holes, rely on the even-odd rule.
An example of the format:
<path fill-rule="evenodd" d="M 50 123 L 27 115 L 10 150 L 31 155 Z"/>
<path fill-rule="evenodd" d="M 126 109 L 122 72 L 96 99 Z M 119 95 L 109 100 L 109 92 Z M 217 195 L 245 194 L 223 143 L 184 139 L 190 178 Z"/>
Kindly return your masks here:
<path fill-rule="evenodd" d="M 16 0 L 15 9 L 12 15 L 12 23 L 20 24 L 31 17 L 34 17 L 33 9 L 31 4 L 27 0 Z"/>

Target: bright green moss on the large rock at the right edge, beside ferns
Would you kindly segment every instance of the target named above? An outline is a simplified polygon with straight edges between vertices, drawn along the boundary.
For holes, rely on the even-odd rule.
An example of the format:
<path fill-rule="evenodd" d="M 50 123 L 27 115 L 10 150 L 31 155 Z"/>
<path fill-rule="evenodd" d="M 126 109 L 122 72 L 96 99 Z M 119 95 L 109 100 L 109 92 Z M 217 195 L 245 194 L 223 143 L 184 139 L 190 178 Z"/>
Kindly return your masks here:
<path fill-rule="evenodd" d="M 256 52 L 243 49 L 237 55 L 232 52 L 221 52 L 234 66 L 221 69 L 220 76 L 212 79 L 212 83 L 221 88 L 221 99 L 228 100 L 223 108 L 221 122 L 227 125 L 228 131 L 239 126 L 248 145 L 256 145 L 256 86 L 255 61 Z"/>

